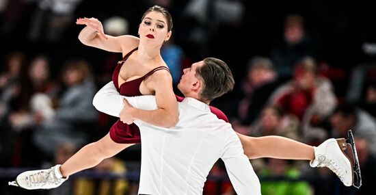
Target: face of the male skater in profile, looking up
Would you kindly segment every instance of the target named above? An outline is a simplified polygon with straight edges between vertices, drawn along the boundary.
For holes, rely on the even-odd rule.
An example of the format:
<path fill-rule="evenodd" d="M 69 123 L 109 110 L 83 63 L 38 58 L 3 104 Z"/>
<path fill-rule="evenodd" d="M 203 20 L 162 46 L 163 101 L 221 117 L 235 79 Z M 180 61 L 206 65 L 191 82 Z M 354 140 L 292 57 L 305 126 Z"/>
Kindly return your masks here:
<path fill-rule="evenodd" d="M 185 68 L 183 70 L 183 76 L 178 83 L 178 89 L 180 90 L 180 92 L 182 92 L 183 94 L 188 94 L 189 92 L 191 92 L 192 88 L 198 82 L 198 78 L 195 76 L 196 69 L 200 66 L 203 66 L 204 64 L 204 61 L 196 62 L 193 63 L 190 68 Z"/>

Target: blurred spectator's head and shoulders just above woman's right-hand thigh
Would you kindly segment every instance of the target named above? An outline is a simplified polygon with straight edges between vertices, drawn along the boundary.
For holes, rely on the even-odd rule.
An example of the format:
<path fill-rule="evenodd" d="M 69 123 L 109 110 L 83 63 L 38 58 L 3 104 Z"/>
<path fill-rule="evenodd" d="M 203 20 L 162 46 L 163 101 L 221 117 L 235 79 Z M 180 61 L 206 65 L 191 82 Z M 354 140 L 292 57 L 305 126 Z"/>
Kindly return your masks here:
<path fill-rule="evenodd" d="M 260 121 L 252 128 L 252 136 L 280 135 L 293 140 L 300 140 L 299 120 L 296 116 L 284 114 L 282 109 L 273 105 L 264 107 Z"/>

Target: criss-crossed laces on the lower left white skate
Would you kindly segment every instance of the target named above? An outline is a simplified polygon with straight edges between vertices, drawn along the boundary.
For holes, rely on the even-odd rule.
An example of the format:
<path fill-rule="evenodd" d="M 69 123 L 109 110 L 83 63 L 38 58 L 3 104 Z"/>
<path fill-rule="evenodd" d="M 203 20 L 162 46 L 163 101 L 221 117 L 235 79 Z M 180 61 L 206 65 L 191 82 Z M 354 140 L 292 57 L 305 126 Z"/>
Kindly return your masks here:
<path fill-rule="evenodd" d="M 55 176 L 53 168 L 25 176 L 25 181 L 30 187 L 43 186 L 46 184 L 59 184 L 60 179 Z"/>

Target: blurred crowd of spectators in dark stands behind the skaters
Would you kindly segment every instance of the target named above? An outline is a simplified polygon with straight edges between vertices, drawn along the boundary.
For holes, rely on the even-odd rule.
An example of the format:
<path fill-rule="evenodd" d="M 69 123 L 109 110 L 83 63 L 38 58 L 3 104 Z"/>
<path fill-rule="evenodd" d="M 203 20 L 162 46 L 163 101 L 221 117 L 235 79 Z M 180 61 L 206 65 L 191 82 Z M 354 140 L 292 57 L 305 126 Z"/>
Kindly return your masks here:
<path fill-rule="evenodd" d="M 116 118 L 96 111 L 92 98 L 111 81 L 122 56 L 81 44 L 75 19 L 96 17 L 105 34 L 136 36 L 142 13 L 158 4 L 174 20 L 172 39 L 161 55 L 176 94 L 183 68 L 202 57 L 219 57 L 232 68 L 236 85 L 213 105 L 228 116 L 235 131 L 281 135 L 313 146 L 327 138 L 347 138 L 347 131 L 353 131 L 360 190 L 345 187 L 326 168 L 309 168 L 307 161 L 251 160 L 263 194 L 372 194 L 376 40 L 371 34 L 376 30 L 368 27 L 375 22 L 367 12 L 371 6 L 344 3 L 364 10 L 351 18 L 352 12 L 334 11 L 336 5 L 321 1 L 312 6 L 291 1 L 273 8 L 257 2 L 1 0 L 0 168 L 62 164 L 109 131 Z M 139 147 L 127 150 L 93 169 L 125 174 L 137 167 L 131 162 L 140 160 Z M 347 152 L 353 159 L 350 148 Z M 225 172 L 218 161 L 211 175 Z M 135 194 L 137 181 L 76 178 L 59 190 L 33 193 Z M 204 194 L 234 192 L 227 180 L 209 180 Z"/>

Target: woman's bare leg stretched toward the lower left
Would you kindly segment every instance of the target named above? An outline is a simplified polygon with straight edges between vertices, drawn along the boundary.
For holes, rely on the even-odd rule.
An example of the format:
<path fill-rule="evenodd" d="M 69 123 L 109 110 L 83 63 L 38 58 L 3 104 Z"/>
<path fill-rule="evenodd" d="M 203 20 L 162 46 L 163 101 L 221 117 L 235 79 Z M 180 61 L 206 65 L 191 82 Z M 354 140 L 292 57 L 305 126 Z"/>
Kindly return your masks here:
<path fill-rule="evenodd" d="M 83 146 L 75 155 L 62 164 L 60 172 L 62 172 L 63 177 L 68 177 L 81 170 L 92 168 L 103 159 L 112 157 L 132 145 L 133 144 L 118 144 L 113 142 L 109 133 L 107 133 L 105 137 L 97 142 Z"/>

